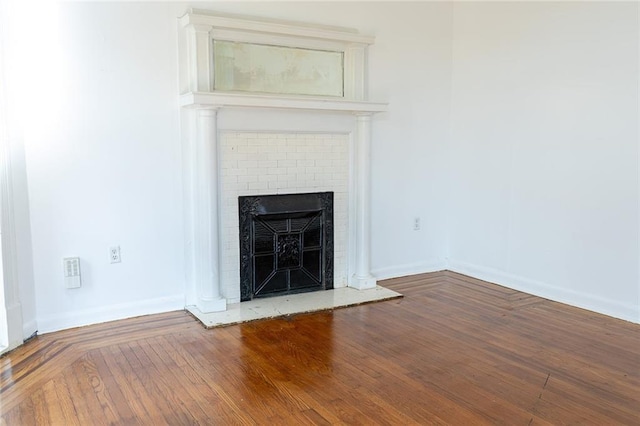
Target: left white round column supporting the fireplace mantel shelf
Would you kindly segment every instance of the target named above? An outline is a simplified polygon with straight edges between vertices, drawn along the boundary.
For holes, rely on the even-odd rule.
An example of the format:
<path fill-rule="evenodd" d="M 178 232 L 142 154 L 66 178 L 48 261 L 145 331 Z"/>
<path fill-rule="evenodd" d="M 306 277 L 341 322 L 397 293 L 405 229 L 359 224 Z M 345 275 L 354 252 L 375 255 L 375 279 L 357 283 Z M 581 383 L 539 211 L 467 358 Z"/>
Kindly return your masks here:
<path fill-rule="evenodd" d="M 203 313 L 227 309 L 226 299 L 220 296 L 217 112 L 215 107 L 197 110 L 197 135 L 192 157 L 195 167 L 194 280 L 196 306 Z"/>

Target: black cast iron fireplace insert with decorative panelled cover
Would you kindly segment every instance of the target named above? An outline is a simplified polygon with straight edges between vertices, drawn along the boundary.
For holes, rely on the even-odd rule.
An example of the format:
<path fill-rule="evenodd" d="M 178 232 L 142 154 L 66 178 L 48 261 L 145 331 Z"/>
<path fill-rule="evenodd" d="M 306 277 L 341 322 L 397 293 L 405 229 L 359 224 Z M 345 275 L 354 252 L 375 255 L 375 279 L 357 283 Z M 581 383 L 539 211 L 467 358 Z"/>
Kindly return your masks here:
<path fill-rule="evenodd" d="M 240 300 L 333 288 L 333 192 L 238 197 Z"/>

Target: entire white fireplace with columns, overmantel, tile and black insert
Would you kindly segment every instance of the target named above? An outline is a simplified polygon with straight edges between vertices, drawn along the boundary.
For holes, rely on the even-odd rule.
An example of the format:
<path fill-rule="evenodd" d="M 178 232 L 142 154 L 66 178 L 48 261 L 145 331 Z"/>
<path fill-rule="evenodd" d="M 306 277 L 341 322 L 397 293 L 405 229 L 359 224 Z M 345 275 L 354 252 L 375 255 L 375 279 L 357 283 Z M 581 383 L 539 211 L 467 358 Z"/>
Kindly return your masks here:
<path fill-rule="evenodd" d="M 247 297 L 322 288 L 335 291 L 346 286 L 376 288 L 370 265 L 369 150 L 372 117 L 386 111 L 387 106 L 367 97 L 366 54 L 373 41 L 353 29 L 205 11 L 190 10 L 180 18 L 188 306 L 212 313 L 225 311 L 227 303 L 240 304 Z M 240 81 L 225 78 L 242 75 L 247 66 L 247 72 L 259 66 L 250 62 L 222 66 L 226 56 L 220 56 L 215 46 L 228 47 L 229 42 L 244 43 L 254 50 L 268 45 L 282 47 L 284 50 L 278 50 L 281 53 L 302 52 L 301 60 L 314 67 L 334 64 L 330 68 L 338 68 L 336 81 L 341 80 L 342 91 L 331 91 L 334 80 L 325 87 L 323 74 L 318 73 L 311 81 L 313 93 L 305 91 L 309 89 L 306 84 L 304 90 L 294 90 L 296 84 L 306 81 L 299 72 L 294 73 L 295 81 L 286 90 L 245 90 L 236 85 Z M 336 60 L 339 57 L 342 60 Z M 279 74 L 289 81 L 287 75 Z M 232 90 L 218 87 L 221 81 L 231 81 Z M 318 87 L 320 92 L 316 93 Z M 333 227 L 333 243 L 327 245 L 329 236 L 325 233 L 322 249 L 301 246 L 304 232 L 295 227 L 316 226 L 314 214 L 304 209 L 293 218 L 278 216 L 284 212 L 254 218 L 250 226 L 270 235 L 265 238 L 271 251 L 266 249 L 268 243 L 260 241 L 264 247 L 250 248 L 254 258 L 249 266 L 257 273 L 251 272 L 248 276 L 252 278 L 243 278 L 241 284 L 238 270 L 249 266 L 239 255 L 238 197 L 254 194 L 265 200 L 269 194 L 326 191 L 334 193 L 334 222 L 318 226 L 322 232 Z M 322 215 L 327 215 L 326 211 Z M 256 269 L 256 262 L 264 270 Z M 245 294 L 247 282 L 254 289 Z"/>

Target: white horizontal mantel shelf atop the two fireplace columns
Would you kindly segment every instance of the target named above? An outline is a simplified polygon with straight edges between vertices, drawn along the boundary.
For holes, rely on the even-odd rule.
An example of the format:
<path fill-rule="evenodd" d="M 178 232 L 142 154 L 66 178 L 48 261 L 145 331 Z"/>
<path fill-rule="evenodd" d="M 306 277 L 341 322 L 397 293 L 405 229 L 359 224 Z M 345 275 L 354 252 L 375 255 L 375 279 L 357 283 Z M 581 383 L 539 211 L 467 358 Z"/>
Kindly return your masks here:
<path fill-rule="evenodd" d="M 245 93 L 189 92 L 180 106 L 191 108 L 270 108 L 374 114 L 387 110 L 386 103 L 312 96 L 274 96 Z"/>

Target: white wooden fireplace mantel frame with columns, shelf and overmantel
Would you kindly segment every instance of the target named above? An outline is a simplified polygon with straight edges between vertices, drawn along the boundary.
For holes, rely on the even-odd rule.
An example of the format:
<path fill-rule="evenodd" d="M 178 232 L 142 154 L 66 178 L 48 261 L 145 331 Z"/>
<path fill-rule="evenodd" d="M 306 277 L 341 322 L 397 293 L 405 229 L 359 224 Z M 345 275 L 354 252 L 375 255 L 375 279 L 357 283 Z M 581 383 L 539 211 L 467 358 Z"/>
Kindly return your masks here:
<path fill-rule="evenodd" d="M 268 109 L 283 116 L 305 113 L 321 120 L 331 116 L 353 117 L 351 135 L 349 197 L 353 211 L 348 228 L 353 235 L 349 247 L 348 286 L 376 287 L 370 272 L 370 146 L 371 118 L 387 104 L 371 102 L 366 91 L 366 49 L 373 37 L 349 29 L 322 28 L 299 23 L 262 22 L 256 19 L 219 17 L 190 12 L 180 19 L 180 86 L 183 111 L 187 304 L 202 313 L 224 311 L 226 299 L 220 283 L 220 195 L 219 144 L 221 110 L 250 121 L 256 112 Z M 343 54 L 343 96 L 309 96 L 226 92 L 213 84 L 214 40 L 275 44 L 340 51 Z M 329 113 L 329 114 L 327 114 Z M 244 114 L 244 115 L 243 115 Z M 295 118 L 293 119 L 295 121 Z M 332 127 L 326 122 L 327 129 Z M 283 129 L 285 130 L 285 129 Z"/>

